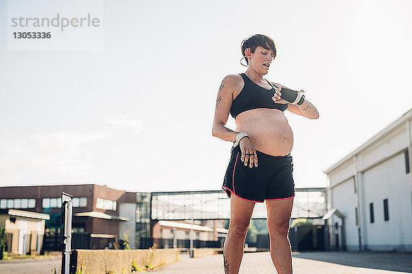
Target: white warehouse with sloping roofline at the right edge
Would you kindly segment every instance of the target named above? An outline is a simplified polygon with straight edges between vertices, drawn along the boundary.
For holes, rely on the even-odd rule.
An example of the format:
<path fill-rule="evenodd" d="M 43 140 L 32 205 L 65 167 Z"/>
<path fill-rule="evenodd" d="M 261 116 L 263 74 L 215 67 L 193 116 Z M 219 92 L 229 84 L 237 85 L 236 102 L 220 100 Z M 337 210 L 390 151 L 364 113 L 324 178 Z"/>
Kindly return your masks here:
<path fill-rule="evenodd" d="M 330 246 L 412 251 L 412 110 L 325 172 Z"/>

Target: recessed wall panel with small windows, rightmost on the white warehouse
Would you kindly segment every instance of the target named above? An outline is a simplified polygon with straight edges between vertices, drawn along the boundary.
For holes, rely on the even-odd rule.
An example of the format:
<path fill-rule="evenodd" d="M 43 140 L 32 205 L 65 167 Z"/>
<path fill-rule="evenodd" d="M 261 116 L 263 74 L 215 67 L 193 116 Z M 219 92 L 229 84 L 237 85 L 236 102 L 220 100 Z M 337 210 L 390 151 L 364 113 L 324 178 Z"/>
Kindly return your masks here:
<path fill-rule="evenodd" d="M 411 186 L 409 174 L 405 172 L 404 153 L 365 171 L 363 190 L 367 248 L 376 251 L 411 250 Z M 388 221 L 384 221 L 383 199 L 388 199 Z M 374 223 L 370 223 L 369 203 L 374 203 Z"/>

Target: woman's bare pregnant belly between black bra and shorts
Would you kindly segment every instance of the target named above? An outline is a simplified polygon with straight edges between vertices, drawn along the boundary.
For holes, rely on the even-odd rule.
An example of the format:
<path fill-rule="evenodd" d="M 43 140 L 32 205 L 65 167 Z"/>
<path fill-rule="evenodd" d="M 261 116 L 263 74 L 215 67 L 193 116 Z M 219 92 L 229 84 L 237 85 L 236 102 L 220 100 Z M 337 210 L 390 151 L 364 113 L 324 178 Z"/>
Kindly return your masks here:
<path fill-rule="evenodd" d="M 255 108 L 236 116 L 236 132 L 246 132 L 253 147 L 275 156 L 288 155 L 293 132 L 282 110 Z"/>

